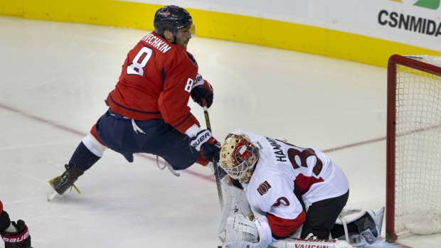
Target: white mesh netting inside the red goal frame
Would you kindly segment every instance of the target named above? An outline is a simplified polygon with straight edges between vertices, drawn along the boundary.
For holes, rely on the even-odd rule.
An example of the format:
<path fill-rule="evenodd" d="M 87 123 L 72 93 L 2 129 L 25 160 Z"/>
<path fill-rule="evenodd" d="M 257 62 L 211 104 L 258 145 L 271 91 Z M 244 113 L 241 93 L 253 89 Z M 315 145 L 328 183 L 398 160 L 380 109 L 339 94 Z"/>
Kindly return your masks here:
<path fill-rule="evenodd" d="M 408 58 L 441 66 L 441 57 Z M 395 232 L 441 217 L 441 79 L 397 65 Z"/>

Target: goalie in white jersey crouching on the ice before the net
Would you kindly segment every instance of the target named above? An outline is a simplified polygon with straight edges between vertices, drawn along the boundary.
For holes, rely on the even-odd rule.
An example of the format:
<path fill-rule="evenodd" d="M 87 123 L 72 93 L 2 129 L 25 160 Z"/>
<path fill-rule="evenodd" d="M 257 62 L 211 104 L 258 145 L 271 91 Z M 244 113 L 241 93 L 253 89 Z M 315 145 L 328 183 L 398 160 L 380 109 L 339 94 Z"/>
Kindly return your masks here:
<path fill-rule="evenodd" d="M 253 222 L 243 215 L 228 217 L 227 247 L 267 247 L 278 239 L 294 237 L 294 232 L 300 239 L 310 234 L 318 239 L 341 237 L 359 244 L 355 246 L 372 244 L 380 236 L 383 208 L 337 220 L 349 198 L 349 182 L 322 151 L 238 129 L 225 139 L 220 166 L 240 181 L 235 185 L 243 187 L 251 209 L 262 215 Z M 224 186 L 230 178 L 223 178 Z M 229 187 L 235 186 L 230 183 Z M 234 194 L 240 198 L 240 193 Z M 239 212 L 247 214 L 247 210 Z M 258 238 L 253 238 L 253 229 Z"/>

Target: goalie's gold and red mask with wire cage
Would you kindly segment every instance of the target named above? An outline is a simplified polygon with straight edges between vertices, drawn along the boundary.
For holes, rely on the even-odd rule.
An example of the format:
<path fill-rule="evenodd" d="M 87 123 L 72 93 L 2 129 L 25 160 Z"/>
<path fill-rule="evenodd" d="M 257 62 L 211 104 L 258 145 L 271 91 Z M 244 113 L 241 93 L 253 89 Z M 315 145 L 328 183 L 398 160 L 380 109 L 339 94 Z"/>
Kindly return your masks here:
<path fill-rule="evenodd" d="M 248 183 L 259 151 L 246 134 L 228 134 L 221 148 L 220 166 L 231 178 Z"/>

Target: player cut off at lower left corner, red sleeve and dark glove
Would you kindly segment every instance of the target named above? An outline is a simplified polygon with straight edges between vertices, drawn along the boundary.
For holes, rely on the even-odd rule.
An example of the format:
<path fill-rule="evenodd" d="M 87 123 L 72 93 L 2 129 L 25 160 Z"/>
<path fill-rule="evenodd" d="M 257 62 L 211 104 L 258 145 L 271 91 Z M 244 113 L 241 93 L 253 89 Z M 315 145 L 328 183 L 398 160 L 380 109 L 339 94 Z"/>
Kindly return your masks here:
<path fill-rule="evenodd" d="M 0 236 L 5 248 L 32 248 L 31 236 L 23 220 L 11 222 L 0 200 Z"/>

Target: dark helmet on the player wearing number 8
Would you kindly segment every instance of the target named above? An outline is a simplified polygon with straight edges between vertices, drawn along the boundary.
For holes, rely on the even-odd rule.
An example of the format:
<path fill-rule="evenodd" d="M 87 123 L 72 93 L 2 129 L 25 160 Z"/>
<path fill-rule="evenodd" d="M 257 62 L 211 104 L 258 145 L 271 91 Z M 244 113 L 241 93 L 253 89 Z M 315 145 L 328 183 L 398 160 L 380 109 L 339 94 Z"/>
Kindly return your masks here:
<path fill-rule="evenodd" d="M 192 36 L 196 33 L 196 28 L 188 11 L 175 5 L 168 5 L 158 9 L 156 14 L 154 14 L 153 26 L 154 32 L 159 36 L 164 35 L 165 28 L 169 29 L 174 36 L 178 33 L 179 28 L 190 28 Z"/>

